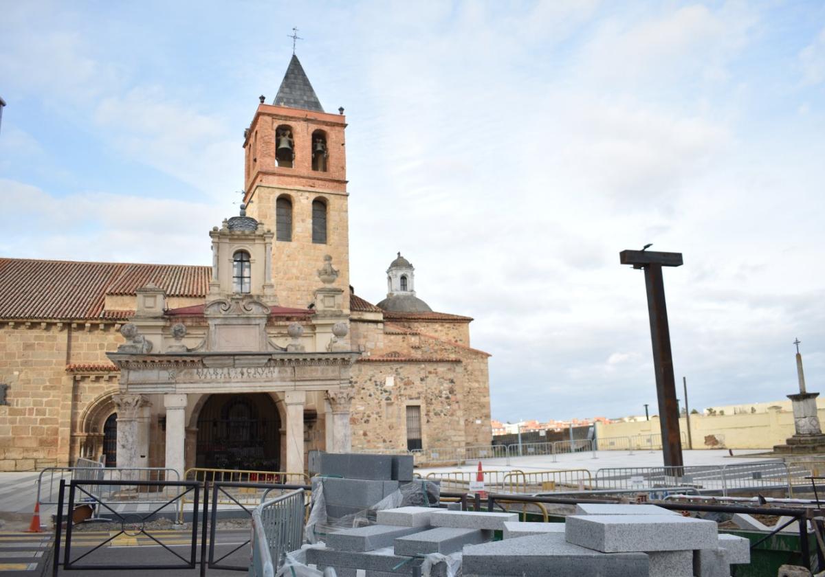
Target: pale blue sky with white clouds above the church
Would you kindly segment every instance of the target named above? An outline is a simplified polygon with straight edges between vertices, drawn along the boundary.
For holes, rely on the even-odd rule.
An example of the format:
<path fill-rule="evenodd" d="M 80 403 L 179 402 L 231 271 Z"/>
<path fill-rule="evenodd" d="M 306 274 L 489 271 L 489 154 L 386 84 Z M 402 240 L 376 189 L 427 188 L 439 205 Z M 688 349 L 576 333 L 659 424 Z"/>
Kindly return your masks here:
<path fill-rule="evenodd" d="M 347 110 L 351 282 L 474 317 L 493 417 L 639 414 L 643 274 L 691 406 L 825 392 L 822 2 L 2 2 L 0 256 L 208 265 L 298 54 Z"/>

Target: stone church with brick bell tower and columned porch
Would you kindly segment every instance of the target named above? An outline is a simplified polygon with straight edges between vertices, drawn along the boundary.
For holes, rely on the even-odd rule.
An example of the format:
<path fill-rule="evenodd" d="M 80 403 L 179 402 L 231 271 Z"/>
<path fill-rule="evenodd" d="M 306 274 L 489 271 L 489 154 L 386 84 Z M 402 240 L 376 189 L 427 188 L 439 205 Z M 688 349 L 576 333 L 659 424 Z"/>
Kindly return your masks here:
<path fill-rule="evenodd" d="M 240 214 L 204 223 L 211 263 L 0 258 L 0 471 L 490 444 L 473 319 L 433 312 L 401 253 L 380 303 L 350 285 L 346 128 L 293 55 L 244 131 Z"/>

